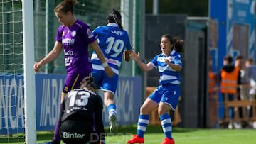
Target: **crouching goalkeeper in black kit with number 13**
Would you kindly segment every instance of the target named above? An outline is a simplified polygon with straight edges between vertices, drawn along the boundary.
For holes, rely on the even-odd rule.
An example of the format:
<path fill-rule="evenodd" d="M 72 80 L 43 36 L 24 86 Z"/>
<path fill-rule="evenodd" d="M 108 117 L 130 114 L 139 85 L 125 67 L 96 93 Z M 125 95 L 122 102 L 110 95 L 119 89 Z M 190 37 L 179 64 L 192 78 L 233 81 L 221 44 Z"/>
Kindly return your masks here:
<path fill-rule="evenodd" d="M 105 144 L 102 99 L 94 79 L 85 77 L 80 89 L 68 92 L 60 111 L 60 137 L 65 144 Z"/>

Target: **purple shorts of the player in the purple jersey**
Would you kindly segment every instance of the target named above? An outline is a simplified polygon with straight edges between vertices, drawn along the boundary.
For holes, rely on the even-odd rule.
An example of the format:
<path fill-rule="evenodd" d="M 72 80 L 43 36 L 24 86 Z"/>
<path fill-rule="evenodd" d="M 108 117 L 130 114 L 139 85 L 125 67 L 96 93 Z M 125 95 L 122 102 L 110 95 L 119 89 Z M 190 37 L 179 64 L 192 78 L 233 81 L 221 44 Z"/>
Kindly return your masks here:
<path fill-rule="evenodd" d="M 82 82 L 82 79 L 88 76 L 90 76 L 90 72 L 85 72 L 82 74 L 67 74 L 63 87 L 63 93 L 67 94 L 72 89 L 80 88 L 80 82 Z"/>

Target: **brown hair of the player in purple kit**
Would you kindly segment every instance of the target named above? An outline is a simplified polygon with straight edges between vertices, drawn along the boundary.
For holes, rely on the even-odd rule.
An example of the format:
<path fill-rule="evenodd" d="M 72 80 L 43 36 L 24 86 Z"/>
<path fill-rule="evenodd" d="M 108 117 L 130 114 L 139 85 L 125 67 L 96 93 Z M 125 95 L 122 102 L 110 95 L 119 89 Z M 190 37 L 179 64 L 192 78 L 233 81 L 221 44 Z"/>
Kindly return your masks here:
<path fill-rule="evenodd" d="M 64 0 L 55 7 L 54 12 L 67 14 L 70 11 L 73 13 L 75 4 L 78 4 L 77 0 Z"/>

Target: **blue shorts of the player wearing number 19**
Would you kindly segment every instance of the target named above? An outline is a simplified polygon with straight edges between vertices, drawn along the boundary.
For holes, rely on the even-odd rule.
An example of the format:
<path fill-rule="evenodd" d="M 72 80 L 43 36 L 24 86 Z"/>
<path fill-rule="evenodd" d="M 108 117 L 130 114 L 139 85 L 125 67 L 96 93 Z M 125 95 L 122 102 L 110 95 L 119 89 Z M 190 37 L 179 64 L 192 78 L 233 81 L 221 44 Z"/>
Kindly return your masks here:
<path fill-rule="evenodd" d="M 108 77 L 105 71 L 92 70 L 92 77 L 95 79 L 95 86 L 102 91 L 112 92 L 117 90 L 119 75 L 114 74 L 114 77 Z"/>

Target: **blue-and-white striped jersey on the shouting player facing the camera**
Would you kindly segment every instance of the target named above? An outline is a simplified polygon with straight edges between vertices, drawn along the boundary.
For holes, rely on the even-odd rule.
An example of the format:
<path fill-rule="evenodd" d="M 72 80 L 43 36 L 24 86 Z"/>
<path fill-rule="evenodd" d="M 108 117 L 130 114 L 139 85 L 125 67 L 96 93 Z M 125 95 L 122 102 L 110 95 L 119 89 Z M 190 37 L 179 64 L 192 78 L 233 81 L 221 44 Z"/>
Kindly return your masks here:
<path fill-rule="evenodd" d="M 181 74 L 176 70 L 169 67 L 165 59 L 168 59 L 171 64 L 180 65 L 182 67 L 181 55 L 172 50 L 171 53 L 166 57 L 163 52 L 156 55 L 151 64 L 154 65 L 159 70 L 159 85 L 161 84 L 180 84 L 181 83 Z"/>

